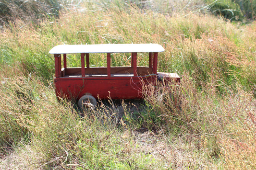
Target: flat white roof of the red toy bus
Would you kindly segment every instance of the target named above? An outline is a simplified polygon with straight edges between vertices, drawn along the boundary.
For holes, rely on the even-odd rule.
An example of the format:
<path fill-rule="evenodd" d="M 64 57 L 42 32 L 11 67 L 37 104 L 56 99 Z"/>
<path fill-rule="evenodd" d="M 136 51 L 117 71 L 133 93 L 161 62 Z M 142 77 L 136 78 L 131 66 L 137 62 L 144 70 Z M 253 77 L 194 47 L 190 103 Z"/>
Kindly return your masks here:
<path fill-rule="evenodd" d="M 97 45 L 57 45 L 50 54 L 70 53 L 139 53 L 162 52 L 164 48 L 158 44 L 97 44 Z"/>

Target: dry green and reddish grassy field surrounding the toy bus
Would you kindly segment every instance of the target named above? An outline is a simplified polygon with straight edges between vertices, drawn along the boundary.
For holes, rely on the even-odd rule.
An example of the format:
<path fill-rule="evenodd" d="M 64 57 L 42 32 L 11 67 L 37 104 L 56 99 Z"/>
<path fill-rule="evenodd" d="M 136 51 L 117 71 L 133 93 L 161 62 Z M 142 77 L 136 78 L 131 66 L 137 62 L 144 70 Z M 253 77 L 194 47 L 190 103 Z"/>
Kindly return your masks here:
<path fill-rule="evenodd" d="M 256 169 L 256 22 L 225 21 L 206 7 L 87 0 L 63 5 L 57 18 L 3 25 L 0 169 Z M 145 86 L 142 101 L 99 102 L 81 118 L 56 99 L 49 50 L 86 43 L 160 44 L 158 71 L 181 83 Z M 69 61 L 79 66 L 79 57 Z"/>

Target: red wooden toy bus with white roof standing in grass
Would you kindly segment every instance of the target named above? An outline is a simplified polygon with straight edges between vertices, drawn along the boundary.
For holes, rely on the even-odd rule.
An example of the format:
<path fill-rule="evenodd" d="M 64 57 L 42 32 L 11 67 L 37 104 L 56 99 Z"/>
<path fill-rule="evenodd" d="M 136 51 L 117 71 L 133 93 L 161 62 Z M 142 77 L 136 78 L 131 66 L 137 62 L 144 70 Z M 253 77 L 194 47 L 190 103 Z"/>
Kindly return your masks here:
<path fill-rule="evenodd" d="M 86 102 L 97 105 L 97 98 L 143 98 L 142 82 L 155 83 L 163 78 L 180 81 L 176 73 L 157 72 L 158 52 L 162 51 L 164 48 L 158 44 L 57 45 L 49 51 L 55 58 L 56 96 L 78 100 L 80 108 Z M 75 53 L 81 54 L 81 67 L 67 68 L 67 54 Z M 107 67 L 90 67 L 89 56 L 92 53 L 105 53 Z M 111 55 L 114 53 L 131 54 L 131 65 L 111 67 Z M 148 53 L 147 67 L 137 67 L 138 53 Z"/>

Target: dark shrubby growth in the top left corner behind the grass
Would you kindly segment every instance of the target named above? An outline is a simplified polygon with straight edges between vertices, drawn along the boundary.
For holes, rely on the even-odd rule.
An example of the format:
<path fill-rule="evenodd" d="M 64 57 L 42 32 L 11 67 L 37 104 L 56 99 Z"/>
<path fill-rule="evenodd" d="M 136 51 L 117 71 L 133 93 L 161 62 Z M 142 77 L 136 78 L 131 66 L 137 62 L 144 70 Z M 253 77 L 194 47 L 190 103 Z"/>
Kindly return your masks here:
<path fill-rule="evenodd" d="M 38 23 L 44 18 L 58 17 L 59 11 L 78 7 L 81 0 L 1 0 L 0 25 L 15 22 Z"/>

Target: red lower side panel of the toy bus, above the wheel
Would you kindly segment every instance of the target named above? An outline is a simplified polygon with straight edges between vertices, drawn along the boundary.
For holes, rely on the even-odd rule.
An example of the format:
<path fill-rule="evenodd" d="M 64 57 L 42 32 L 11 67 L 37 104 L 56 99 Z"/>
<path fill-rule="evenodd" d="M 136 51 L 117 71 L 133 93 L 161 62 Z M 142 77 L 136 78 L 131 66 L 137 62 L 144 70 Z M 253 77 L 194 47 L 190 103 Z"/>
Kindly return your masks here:
<path fill-rule="evenodd" d="M 56 95 L 68 99 L 79 99 L 90 93 L 96 99 L 136 99 L 143 98 L 142 83 L 154 83 L 156 76 L 145 77 L 90 77 L 54 79 Z M 97 87 L 97 88 L 96 88 Z M 109 93 L 110 92 L 110 93 Z"/>

